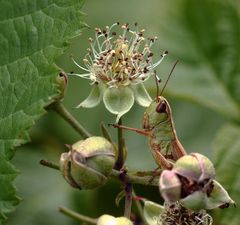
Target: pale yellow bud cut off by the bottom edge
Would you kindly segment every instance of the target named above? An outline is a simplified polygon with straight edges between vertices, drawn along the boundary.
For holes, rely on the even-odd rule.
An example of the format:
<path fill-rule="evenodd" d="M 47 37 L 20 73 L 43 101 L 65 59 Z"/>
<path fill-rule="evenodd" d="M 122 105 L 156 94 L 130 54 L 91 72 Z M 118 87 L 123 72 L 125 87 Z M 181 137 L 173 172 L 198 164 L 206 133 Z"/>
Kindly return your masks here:
<path fill-rule="evenodd" d="M 98 218 L 97 225 L 133 225 L 133 222 L 126 217 L 113 217 L 105 214 Z"/>

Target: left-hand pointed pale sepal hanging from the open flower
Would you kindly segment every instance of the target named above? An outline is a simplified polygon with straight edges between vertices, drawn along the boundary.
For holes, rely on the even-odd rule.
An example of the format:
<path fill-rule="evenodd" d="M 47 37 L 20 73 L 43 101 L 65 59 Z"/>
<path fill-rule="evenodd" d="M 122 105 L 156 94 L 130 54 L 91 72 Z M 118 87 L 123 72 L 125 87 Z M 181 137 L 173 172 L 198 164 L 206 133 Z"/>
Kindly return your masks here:
<path fill-rule="evenodd" d="M 89 94 L 89 96 L 81 102 L 76 108 L 93 108 L 97 106 L 102 98 L 101 90 L 99 85 L 95 84 Z"/>

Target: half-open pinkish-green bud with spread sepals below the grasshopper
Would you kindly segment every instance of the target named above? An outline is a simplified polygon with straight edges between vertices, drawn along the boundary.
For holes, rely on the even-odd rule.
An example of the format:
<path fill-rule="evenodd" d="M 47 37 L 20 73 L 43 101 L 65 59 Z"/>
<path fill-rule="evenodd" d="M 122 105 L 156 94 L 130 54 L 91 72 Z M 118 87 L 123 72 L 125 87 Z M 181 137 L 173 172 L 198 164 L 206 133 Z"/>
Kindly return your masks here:
<path fill-rule="evenodd" d="M 167 203 L 179 201 L 187 209 L 225 208 L 234 201 L 214 179 L 212 162 L 199 153 L 178 159 L 172 170 L 164 170 L 160 177 L 160 192 Z"/>

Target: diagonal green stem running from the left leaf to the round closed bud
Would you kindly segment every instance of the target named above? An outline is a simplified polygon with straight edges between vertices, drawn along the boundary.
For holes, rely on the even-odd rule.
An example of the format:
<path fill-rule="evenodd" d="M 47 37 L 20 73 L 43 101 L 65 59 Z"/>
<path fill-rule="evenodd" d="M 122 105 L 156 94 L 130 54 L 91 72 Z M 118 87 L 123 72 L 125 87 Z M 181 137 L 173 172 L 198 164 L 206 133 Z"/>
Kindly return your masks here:
<path fill-rule="evenodd" d="M 73 129 L 75 129 L 82 138 L 88 138 L 92 136 L 74 117 L 73 115 L 64 107 L 61 102 L 55 102 L 49 107 L 56 113 L 58 113 L 65 121 L 67 121 Z"/>

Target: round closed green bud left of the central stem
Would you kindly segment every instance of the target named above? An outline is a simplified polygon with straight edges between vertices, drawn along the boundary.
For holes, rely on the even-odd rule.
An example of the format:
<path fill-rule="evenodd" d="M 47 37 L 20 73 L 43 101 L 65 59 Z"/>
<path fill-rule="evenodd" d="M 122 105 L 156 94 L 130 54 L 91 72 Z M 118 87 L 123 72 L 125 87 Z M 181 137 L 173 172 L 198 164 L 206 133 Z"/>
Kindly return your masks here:
<path fill-rule="evenodd" d="M 79 141 L 60 158 L 63 177 L 71 186 L 80 189 L 92 189 L 105 184 L 114 164 L 114 147 L 103 137 Z"/>

